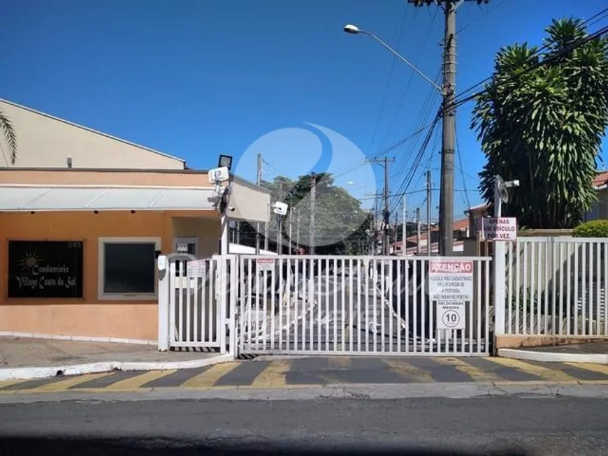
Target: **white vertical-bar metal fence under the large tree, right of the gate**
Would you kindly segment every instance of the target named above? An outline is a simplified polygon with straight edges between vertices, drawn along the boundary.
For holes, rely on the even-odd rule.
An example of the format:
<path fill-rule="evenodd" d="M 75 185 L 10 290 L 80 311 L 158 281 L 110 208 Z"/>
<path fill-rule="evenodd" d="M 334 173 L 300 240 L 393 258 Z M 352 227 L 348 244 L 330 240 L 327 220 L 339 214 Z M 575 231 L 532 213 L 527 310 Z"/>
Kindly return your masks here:
<path fill-rule="evenodd" d="M 608 336 L 608 241 L 506 243 L 505 334 Z"/>

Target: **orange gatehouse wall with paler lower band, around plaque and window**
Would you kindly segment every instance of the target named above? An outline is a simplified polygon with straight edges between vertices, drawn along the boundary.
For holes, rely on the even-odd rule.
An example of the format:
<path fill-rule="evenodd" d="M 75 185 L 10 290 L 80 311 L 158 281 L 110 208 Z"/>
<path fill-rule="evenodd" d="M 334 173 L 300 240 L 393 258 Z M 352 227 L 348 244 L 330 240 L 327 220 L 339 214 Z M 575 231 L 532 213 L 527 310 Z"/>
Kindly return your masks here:
<path fill-rule="evenodd" d="M 99 301 L 99 237 L 160 237 L 161 251 L 173 251 L 173 219 L 164 212 L 0 213 L 0 331 L 71 336 L 157 339 L 157 301 Z M 188 216 L 195 214 L 189 213 Z M 205 214 L 207 217 L 210 214 Z M 203 214 L 198 214 L 203 216 Z M 209 226 L 217 225 L 211 216 Z M 219 233 L 219 228 L 215 228 Z M 209 243 L 215 233 L 210 235 Z M 217 239 L 217 238 L 216 238 Z M 8 240 L 83 242 L 82 299 L 8 299 Z M 215 240 L 212 243 L 215 245 Z M 201 252 L 207 253 L 207 252 Z M 211 252 L 212 253 L 212 252 Z"/>

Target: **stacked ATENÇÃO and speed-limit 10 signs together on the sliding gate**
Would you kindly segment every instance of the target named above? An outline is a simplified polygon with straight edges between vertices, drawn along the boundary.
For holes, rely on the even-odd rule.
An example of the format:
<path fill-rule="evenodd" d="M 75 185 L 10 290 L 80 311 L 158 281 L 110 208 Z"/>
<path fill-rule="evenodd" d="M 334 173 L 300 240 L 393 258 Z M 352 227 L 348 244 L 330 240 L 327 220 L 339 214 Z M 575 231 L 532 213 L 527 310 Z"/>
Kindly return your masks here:
<path fill-rule="evenodd" d="M 428 293 L 430 300 L 437 302 L 437 329 L 464 329 L 465 303 L 473 300 L 473 262 L 430 261 Z"/>

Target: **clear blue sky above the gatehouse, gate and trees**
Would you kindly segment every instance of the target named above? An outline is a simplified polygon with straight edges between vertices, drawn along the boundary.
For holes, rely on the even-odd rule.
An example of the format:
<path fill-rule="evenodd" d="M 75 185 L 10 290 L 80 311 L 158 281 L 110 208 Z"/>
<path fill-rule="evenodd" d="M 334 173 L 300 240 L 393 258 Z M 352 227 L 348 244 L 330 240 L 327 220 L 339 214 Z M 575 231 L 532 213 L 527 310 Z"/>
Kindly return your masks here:
<path fill-rule="evenodd" d="M 405 64 L 370 38 L 342 31 L 352 23 L 375 32 L 434 79 L 444 27 L 436 7 L 405 0 L 0 0 L 0 6 L 1 98 L 180 156 L 193 168 L 212 168 L 219 154 L 231 154 L 238 174 L 253 180 L 261 153 L 265 179 L 329 170 L 369 207 L 382 168 L 365 156 L 410 136 L 439 106 L 430 84 Z M 463 4 L 456 91 L 490 75 L 501 46 L 538 44 L 553 17 L 586 18 L 603 7 L 602 0 Z M 484 157 L 469 129 L 471 108 L 464 105 L 457 117 L 457 218 L 479 203 Z M 424 133 L 389 152 L 396 160 L 389 165 L 392 191 L 423 139 Z M 427 167 L 439 186 L 440 137 L 430 145 L 435 153 L 424 157 L 409 191 L 424 189 Z M 424 193 L 413 194 L 408 207 L 423 201 Z"/>

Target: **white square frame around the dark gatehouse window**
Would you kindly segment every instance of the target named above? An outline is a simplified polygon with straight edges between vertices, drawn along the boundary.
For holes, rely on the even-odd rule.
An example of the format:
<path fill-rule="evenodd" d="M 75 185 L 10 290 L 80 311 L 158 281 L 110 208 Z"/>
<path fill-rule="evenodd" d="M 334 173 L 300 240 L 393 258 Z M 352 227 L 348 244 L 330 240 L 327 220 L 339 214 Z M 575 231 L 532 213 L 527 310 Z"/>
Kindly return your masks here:
<path fill-rule="evenodd" d="M 105 284 L 106 249 L 105 244 L 154 244 L 154 251 L 161 250 L 160 237 L 99 237 L 97 244 L 97 299 L 100 301 L 154 301 L 159 295 L 159 273 L 154 262 L 154 293 L 106 293 Z"/>

